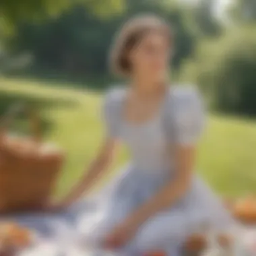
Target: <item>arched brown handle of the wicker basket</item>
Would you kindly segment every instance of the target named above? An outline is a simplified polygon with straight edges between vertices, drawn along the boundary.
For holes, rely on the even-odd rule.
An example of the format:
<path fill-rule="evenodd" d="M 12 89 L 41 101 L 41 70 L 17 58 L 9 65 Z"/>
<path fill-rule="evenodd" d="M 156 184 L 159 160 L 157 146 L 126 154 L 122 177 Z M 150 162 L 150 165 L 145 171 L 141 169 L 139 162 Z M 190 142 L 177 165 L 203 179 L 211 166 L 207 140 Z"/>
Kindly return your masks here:
<path fill-rule="evenodd" d="M 28 107 L 23 104 L 15 104 L 11 106 L 5 115 L 0 119 L 0 137 L 7 133 L 9 126 L 13 123 L 14 119 L 20 114 L 25 113 L 30 119 L 30 132 L 32 133 L 32 139 L 36 142 L 40 142 L 42 138 L 42 130 L 40 127 L 40 119 L 38 113 L 34 108 Z"/>

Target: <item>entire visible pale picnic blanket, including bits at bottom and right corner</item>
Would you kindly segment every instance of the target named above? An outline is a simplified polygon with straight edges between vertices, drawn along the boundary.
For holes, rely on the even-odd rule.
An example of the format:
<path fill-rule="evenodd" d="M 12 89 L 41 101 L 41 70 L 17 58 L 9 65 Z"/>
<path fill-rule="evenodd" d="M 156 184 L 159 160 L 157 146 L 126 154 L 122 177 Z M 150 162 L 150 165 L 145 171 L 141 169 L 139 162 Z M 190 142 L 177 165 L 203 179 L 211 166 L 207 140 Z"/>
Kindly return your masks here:
<path fill-rule="evenodd" d="M 100 251 L 100 249 L 88 250 L 83 245 L 83 237 L 79 234 L 79 212 L 84 210 L 90 214 L 94 210 L 94 200 L 79 202 L 68 210 L 56 214 L 26 213 L 13 216 L 1 216 L 0 220 L 18 222 L 34 230 L 38 235 L 37 242 L 29 249 L 22 251 L 18 256 L 141 256 L 120 255 L 118 252 Z M 256 255 L 256 228 L 241 226 L 237 229 L 237 236 L 241 236 L 244 247 L 240 248 L 238 255 L 231 256 L 255 256 Z M 247 248 L 248 247 L 248 248 Z M 245 252 L 247 249 L 247 252 Z M 239 251 L 239 250 L 238 250 Z M 183 256 L 181 250 L 168 253 L 171 256 Z"/>

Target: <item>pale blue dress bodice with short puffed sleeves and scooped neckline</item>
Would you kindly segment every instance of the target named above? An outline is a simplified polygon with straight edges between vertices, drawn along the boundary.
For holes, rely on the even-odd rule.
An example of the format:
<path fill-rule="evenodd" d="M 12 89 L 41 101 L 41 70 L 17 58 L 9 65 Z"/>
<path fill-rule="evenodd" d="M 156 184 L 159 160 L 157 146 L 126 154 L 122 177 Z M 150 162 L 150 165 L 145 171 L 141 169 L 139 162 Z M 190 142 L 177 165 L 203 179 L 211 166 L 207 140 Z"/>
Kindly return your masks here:
<path fill-rule="evenodd" d="M 145 123 L 129 123 L 123 118 L 123 100 L 127 91 L 114 88 L 106 94 L 104 120 L 109 136 L 121 139 L 137 170 L 160 172 L 173 169 L 174 144 L 191 144 L 203 126 L 201 100 L 193 88 L 170 88 L 162 108 Z"/>

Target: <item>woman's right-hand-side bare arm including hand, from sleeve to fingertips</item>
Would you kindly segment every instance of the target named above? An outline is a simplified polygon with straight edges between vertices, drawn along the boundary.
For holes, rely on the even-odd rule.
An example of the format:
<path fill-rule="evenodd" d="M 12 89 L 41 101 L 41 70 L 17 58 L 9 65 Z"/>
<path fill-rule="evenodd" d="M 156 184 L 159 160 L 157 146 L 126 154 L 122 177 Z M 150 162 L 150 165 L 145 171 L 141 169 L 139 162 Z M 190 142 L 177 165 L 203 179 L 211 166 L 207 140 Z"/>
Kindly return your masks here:
<path fill-rule="evenodd" d="M 192 170 L 195 162 L 195 147 L 178 146 L 176 150 L 177 177 L 168 182 L 149 201 L 131 213 L 126 220 L 114 228 L 104 241 L 106 248 L 122 247 L 137 232 L 137 228 L 148 218 L 171 207 L 181 199 L 191 184 Z"/>

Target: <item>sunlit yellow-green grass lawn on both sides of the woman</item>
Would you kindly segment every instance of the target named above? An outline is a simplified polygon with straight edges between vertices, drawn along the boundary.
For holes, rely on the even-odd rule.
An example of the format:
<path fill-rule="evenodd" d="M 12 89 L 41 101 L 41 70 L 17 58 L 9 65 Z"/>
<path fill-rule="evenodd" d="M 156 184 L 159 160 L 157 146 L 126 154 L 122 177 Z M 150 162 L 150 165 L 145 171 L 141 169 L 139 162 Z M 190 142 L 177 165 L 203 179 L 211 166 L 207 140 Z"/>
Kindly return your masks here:
<path fill-rule="evenodd" d="M 96 154 L 102 137 L 101 100 L 100 94 L 89 90 L 0 78 L 0 110 L 17 101 L 37 104 L 45 138 L 59 143 L 67 152 L 57 187 L 59 195 L 79 179 Z M 199 147 L 198 170 L 218 193 L 231 196 L 256 193 L 255 149 L 256 121 L 210 115 Z M 125 158 L 122 150 L 106 179 L 115 174 Z"/>

